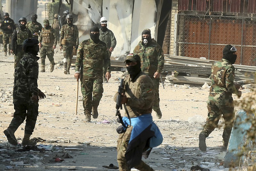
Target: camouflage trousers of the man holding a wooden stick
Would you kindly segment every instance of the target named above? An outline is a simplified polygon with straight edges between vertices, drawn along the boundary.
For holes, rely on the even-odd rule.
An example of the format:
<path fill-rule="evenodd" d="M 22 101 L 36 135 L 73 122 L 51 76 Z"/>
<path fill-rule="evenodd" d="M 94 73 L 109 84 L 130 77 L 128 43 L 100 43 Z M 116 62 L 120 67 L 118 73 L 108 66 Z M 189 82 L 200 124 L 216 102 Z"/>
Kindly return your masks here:
<path fill-rule="evenodd" d="M 92 113 L 92 106 L 99 106 L 102 97 L 102 75 L 93 75 L 90 79 L 83 79 L 83 75 L 81 74 L 80 80 L 84 113 Z"/>

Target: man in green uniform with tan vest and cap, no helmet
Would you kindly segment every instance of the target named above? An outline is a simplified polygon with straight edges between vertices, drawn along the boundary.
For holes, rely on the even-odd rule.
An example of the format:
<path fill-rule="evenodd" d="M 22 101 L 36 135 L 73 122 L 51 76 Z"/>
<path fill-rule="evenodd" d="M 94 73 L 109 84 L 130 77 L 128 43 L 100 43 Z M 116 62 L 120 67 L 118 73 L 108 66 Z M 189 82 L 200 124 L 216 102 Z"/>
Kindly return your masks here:
<path fill-rule="evenodd" d="M 38 38 L 39 41 L 39 47 L 40 49 L 40 58 L 41 58 L 41 71 L 40 72 L 45 72 L 45 58 L 46 55 L 51 63 L 51 68 L 50 72 L 53 71 L 54 69 L 54 49 L 56 48 L 57 45 L 57 36 L 55 30 L 51 27 L 49 24 L 49 20 L 45 19 L 44 20 L 44 28 L 42 28 L 42 32 L 40 32 L 40 36 Z M 41 43 L 43 41 L 43 45 Z"/>

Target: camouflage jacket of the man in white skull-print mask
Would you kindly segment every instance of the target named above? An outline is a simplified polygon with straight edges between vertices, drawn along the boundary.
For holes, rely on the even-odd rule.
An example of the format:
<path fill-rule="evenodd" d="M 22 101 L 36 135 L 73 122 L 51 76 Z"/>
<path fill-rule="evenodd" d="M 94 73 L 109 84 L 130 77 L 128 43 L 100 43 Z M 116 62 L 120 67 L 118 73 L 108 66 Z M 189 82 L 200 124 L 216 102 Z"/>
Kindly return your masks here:
<path fill-rule="evenodd" d="M 164 68 L 164 52 L 155 41 L 143 46 L 141 41 L 134 48 L 133 53 L 140 55 L 141 70 L 153 77 L 155 72 L 161 73 Z"/>

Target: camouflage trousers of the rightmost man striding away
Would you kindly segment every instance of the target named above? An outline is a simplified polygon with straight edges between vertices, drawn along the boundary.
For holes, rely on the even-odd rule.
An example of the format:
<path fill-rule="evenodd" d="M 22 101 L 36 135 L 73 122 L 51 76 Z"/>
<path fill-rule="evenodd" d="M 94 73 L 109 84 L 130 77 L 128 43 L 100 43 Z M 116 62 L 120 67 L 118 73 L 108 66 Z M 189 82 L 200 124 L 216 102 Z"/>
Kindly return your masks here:
<path fill-rule="evenodd" d="M 229 137 L 235 120 L 234 102 L 231 99 L 228 103 L 210 101 L 207 103 L 208 118 L 204 125 L 203 133 L 208 137 L 209 134 L 218 126 L 221 115 L 225 121 L 222 134 L 223 145 L 228 146 Z"/>

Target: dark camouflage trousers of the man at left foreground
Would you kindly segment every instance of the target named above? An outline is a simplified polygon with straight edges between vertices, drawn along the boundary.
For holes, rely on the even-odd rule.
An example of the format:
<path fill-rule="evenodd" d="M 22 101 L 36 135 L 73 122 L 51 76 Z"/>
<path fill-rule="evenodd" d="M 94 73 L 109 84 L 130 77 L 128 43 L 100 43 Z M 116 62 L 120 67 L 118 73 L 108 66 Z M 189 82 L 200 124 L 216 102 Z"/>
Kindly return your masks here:
<path fill-rule="evenodd" d="M 25 133 L 32 135 L 38 115 L 38 103 L 15 103 L 14 110 L 12 122 L 8 128 L 15 132 L 26 119 Z"/>

